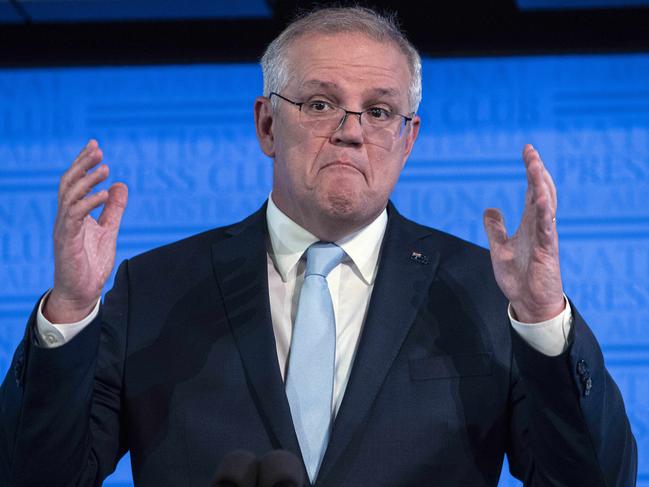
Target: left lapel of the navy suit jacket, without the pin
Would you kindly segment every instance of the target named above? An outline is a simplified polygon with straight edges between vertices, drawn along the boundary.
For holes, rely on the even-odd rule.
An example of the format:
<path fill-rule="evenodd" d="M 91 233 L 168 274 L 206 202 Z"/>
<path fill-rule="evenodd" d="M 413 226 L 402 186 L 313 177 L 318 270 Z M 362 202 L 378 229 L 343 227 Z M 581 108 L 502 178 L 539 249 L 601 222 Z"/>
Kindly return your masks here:
<path fill-rule="evenodd" d="M 212 246 L 212 263 L 251 393 L 275 448 L 300 456 L 268 298 L 266 206 Z"/>

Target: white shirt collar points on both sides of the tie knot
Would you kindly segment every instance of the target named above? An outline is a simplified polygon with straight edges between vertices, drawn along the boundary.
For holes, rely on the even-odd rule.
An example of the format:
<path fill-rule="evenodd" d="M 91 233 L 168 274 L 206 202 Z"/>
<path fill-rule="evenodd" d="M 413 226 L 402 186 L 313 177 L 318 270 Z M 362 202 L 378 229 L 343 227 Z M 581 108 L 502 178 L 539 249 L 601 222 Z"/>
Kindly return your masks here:
<path fill-rule="evenodd" d="M 273 202 L 272 194 L 268 198 L 266 221 L 273 260 L 282 280 L 286 282 L 306 249 L 319 239 L 284 214 Z M 372 284 L 376 278 L 387 223 L 388 214 L 383 210 L 372 223 L 336 242 L 354 263 L 366 284 Z"/>

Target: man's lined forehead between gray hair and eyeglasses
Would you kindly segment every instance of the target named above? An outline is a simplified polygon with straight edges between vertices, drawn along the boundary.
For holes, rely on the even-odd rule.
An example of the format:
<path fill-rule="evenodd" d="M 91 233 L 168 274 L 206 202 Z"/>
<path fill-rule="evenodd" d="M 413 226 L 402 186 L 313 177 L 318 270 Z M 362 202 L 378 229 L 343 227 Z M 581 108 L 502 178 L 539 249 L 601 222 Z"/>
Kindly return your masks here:
<path fill-rule="evenodd" d="M 290 45 L 288 66 L 288 85 L 293 90 L 407 100 L 408 60 L 392 41 L 379 42 L 358 33 L 308 34 Z"/>

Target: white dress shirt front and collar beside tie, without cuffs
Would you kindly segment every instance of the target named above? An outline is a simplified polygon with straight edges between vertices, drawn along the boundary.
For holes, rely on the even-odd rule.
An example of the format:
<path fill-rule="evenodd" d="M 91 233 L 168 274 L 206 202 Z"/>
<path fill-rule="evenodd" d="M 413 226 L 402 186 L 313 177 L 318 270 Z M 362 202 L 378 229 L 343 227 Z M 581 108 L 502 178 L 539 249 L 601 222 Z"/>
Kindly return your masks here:
<path fill-rule="evenodd" d="M 270 311 L 282 378 L 286 366 L 300 289 L 304 281 L 306 249 L 319 239 L 300 227 L 268 199 L 266 211 L 271 249 L 268 253 Z M 358 339 L 374 288 L 385 210 L 369 225 L 336 242 L 347 258 L 327 276 L 336 319 L 336 359 L 332 411 L 338 412 L 349 379 Z"/>

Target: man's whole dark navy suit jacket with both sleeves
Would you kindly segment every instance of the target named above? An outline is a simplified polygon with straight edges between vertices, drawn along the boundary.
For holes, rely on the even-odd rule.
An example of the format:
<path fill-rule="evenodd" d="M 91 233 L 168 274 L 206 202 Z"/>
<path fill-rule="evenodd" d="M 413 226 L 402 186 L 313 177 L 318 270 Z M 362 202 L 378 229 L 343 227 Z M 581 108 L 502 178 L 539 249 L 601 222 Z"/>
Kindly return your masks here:
<path fill-rule="evenodd" d="M 206 486 L 237 448 L 299 455 L 266 241 L 262 208 L 123 262 L 60 348 L 33 344 L 32 316 L 2 386 L 2 485 L 100 485 L 127 449 L 136 485 L 155 487 Z M 486 250 L 390 207 L 317 486 L 495 486 L 505 453 L 526 485 L 633 485 L 635 441 L 584 321 L 549 358 L 506 307 Z"/>

